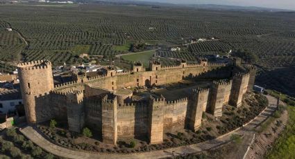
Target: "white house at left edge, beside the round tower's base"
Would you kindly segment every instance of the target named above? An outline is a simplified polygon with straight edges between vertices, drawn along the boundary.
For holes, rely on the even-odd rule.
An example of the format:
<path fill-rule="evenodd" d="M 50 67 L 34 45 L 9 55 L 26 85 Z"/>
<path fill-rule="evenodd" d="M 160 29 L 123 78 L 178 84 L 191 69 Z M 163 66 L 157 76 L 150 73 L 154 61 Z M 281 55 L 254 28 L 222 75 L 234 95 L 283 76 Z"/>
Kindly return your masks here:
<path fill-rule="evenodd" d="M 16 89 L 0 93 L 0 113 L 15 111 L 15 106 L 22 104 L 22 94 Z"/>

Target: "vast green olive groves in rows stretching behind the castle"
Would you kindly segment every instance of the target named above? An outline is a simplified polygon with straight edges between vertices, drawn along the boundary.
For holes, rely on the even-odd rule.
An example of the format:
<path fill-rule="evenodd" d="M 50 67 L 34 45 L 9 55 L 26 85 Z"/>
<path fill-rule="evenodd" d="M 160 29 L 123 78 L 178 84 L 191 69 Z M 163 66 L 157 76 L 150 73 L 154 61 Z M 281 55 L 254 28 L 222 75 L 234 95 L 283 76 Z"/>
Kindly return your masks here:
<path fill-rule="evenodd" d="M 194 62 L 199 56 L 244 49 L 258 56 L 256 64 L 262 69 L 259 84 L 267 79 L 267 87 L 294 95 L 294 86 L 285 80 L 295 65 L 294 16 L 294 12 L 168 6 L 1 4 L 0 60 L 49 59 L 55 65 L 74 64 L 83 62 L 78 57 L 81 53 L 110 59 L 130 53 L 130 45 L 138 42 L 160 46 L 155 57 L 166 65 L 174 64 L 171 59 L 175 58 Z M 191 40 L 212 37 L 214 40 L 190 44 Z M 172 52 L 170 46 L 180 46 L 181 50 Z M 278 68 L 280 81 L 273 78 Z M 284 82 L 284 86 L 272 86 L 274 82 Z"/>

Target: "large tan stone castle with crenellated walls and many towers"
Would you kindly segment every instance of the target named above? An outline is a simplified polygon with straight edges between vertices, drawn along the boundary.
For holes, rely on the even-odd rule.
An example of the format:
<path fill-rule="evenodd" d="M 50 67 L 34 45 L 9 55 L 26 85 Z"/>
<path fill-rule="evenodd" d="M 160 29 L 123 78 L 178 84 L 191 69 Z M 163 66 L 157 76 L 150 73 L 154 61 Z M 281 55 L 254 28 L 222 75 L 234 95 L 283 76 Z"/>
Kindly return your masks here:
<path fill-rule="evenodd" d="M 74 81 L 54 86 L 51 62 L 26 62 L 18 65 L 26 120 L 30 124 L 53 118 L 67 121 L 70 131 L 90 127 L 101 134 L 106 144 L 118 138 L 149 138 L 150 144 L 163 142 L 163 135 L 175 129 L 201 127 L 203 111 L 219 117 L 224 104 L 241 106 L 246 91 L 255 81 L 255 67 L 228 63 L 197 64 L 180 60 L 177 66 L 162 66 L 151 61 L 149 68 L 137 62 L 130 72 L 117 73 L 110 67 L 97 77 L 73 74 Z M 126 87 L 160 86 L 183 79 L 215 79 L 209 88 L 192 89 L 187 97 L 167 101 L 163 95 L 133 100 Z M 216 80 L 217 79 L 217 80 Z"/>

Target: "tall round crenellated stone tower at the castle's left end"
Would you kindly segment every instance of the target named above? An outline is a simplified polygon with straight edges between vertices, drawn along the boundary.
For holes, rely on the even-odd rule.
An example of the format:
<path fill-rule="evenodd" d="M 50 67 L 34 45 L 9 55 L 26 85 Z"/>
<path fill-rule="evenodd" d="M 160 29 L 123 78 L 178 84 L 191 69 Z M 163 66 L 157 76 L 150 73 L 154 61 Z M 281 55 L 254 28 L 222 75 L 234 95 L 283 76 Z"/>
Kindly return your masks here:
<path fill-rule="evenodd" d="M 44 95 L 54 88 L 51 66 L 51 62 L 47 60 L 17 65 L 26 120 L 30 124 L 37 122 L 35 97 Z"/>

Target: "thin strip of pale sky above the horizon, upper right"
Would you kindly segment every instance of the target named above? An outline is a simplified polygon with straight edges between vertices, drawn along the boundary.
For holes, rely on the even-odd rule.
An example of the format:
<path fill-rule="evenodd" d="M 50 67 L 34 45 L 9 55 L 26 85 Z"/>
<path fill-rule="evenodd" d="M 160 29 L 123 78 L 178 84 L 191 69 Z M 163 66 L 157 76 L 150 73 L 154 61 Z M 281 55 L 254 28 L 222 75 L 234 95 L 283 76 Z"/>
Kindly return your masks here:
<path fill-rule="evenodd" d="M 295 0 L 137 0 L 164 3 L 219 4 L 229 6 L 257 6 L 295 10 Z"/>

